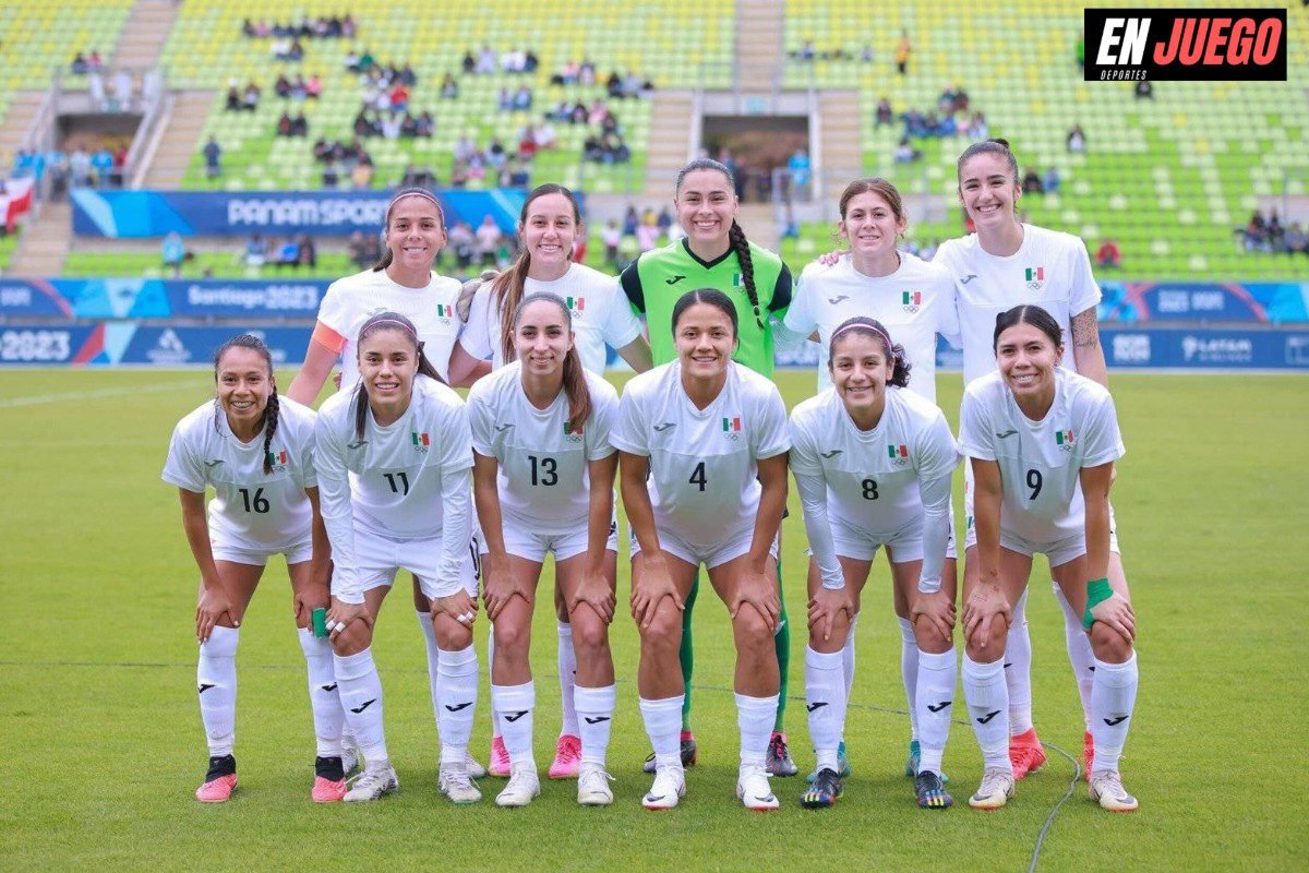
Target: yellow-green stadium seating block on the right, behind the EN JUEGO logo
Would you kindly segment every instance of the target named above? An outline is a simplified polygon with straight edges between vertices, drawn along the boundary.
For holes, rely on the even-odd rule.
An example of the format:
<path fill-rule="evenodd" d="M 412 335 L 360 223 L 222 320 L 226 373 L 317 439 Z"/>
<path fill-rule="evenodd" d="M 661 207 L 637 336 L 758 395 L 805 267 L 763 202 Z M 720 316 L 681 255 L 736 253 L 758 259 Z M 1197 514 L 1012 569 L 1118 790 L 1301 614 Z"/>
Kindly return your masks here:
<path fill-rule="evenodd" d="M 1138 4 L 1141 5 L 1141 4 Z M 1199 3 L 1145 3 L 1178 7 Z M 1258 8 L 1257 0 L 1233 7 Z M 1266 4 L 1262 4 L 1266 5 Z M 1123 250 L 1124 275 L 1143 277 L 1263 279 L 1305 276 L 1304 258 L 1245 253 L 1236 229 L 1261 196 L 1309 188 L 1309 18 L 1288 10 L 1288 82 L 1157 82 L 1153 99 L 1136 99 L 1127 82 L 1085 82 L 1075 63 L 1083 5 L 1063 0 L 942 0 L 878 8 L 855 0 L 787 0 L 785 47 L 813 39 L 819 55 L 851 59 L 791 62 L 791 86 L 857 88 L 863 105 L 864 168 L 906 192 L 954 203 L 954 162 L 965 136 L 915 140 L 914 164 L 893 158 L 903 124 L 876 126 L 885 94 L 897 116 L 928 113 L 949 86 L 962 85 L 971 109 L 986 114 L 991 136 L 1004 136 L 1022 170 L 1054 165 L 1058 195 L 1026 196 L 1028 220 L 1081 236 L 1094 251 L 1106 237 Z M 901 30 L 912 42 L 908 75 L 895 71 Z M 873 60 L 859 59 L 865 42 Z M 1086 134 L 1084 154 L 1067 151 L 1073 123 Z M 910 198 L 912 208 L 912 198 Z M 912 219 L 912 215 L 911 215 Z M 962 220 L 911 228 L 919 241 L 958 236 Z M 830 225 L 805 228 L 797 253 L 830 245 Z"/>

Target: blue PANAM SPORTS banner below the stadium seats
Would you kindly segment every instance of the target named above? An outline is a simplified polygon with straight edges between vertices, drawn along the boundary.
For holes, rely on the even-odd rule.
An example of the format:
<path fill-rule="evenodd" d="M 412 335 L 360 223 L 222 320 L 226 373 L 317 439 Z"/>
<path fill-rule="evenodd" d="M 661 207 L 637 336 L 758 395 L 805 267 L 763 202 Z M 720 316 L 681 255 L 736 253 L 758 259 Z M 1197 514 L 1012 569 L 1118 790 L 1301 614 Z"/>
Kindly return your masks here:
<path fill-rule="evenodd" d="M 348 236 L 377 233 L 391 191 L 101 191 L 72 192 L 73 233 L 118 240 L 182 236 Z M 518 223 L 517 188 L 437 192 L 446 224 L 474 228 L 491 216 L 505 233 Z"/>

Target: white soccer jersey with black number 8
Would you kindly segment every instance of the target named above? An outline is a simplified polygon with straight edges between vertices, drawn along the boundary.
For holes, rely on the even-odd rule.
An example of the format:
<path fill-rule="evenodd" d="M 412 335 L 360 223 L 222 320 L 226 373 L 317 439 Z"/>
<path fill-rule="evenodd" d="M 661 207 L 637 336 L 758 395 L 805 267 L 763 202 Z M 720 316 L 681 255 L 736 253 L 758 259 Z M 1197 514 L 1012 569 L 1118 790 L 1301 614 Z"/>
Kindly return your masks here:
<path fill-rule="evenodd" d="M 833 389 L 791 414 L 791 469 L 822 476 L 829 517 L 873 539 L 922 518 L 919 480 L 949 476 L 959 457 L 941 410 L 898 387 L 872 431 L 855 427 Z"/>

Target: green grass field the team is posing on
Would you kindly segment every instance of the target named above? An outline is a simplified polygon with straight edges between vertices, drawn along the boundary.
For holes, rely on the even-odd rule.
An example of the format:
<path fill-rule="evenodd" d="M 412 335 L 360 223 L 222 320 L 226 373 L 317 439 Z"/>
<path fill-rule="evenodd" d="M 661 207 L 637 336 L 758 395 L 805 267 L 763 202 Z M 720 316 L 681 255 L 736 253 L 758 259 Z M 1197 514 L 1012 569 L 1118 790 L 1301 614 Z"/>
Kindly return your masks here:
<path fill-rule="evenodd" d="M 283 376 L 283 385 L 289 374 Z M 779 377 L 795 403 L 810 373 Z M 959 380 L 941 378 L 957 419 Z M 289 585 L 270 565 L 238 656 L 241 788 L 221 806 L 192 792 L 206 764 L 195 703 L 196 572 L 178 500 L 158 479 L 175 420 L 203 402 L 206 372 L 0 372 L 0 869 L 1028 869 L 1051 819 L 1042 870 L 1305 869 L 1309 745 L 1304 668 L 1309 598 L 1305 496 L 1309 380 L 1301 376 L 1115 376 L 1128 454 L 1114 491 L 1140 620 L 1141 687 L 1123 772 L 1135 815 L 1092 805 L 1051 750 L 999 813 L 962 805 L 980 775 L 967 725 L 945 767 L 961 805 L 920 811 L 902 775 L 908 722 L 885 563 L 859 627 L 847 737 L 855 776 L 836 808 L 741 809 L 730 636 L 712 594 L 696 619 L 700 764 L 672 813 L 639 804 L 647 741 L 636 709 L 636 633 L 613 627 L 619 713 L 615 804 L 581 809 L 547 783 L 524 810 L 488 796 L 452 808 L 436 788 L 436 732 L 407 596 L 390 598 L 376 652 L 402 791 L 367 808 L 309 802 L 313 734 Z M 795 499 L 793 499 L 795 503 Z M 956 501 L 959 507 L 959 501 Z M 812 767 L 802 705 L 804 531 L 787 522 L 792 636 L 788 729 Z M 619 569 L 619 601 L 627 575 Z M 1039 567 L 1039 563 L 1038 563 Z M 547 571 L 548 579 L 548 571 Z M 1080 749 L 1063 624 L 1043 569 L 1029 605 L 1035 721 Z M 555 633 L 538 610 L 537 760 L 558 730 Z M 486 632 L 479 620 L 479 639 Z M 483 674 L 484 674 L 483 666 Z M 962 700 L 962 691 L 959 692 Z M 474 749 L 488 745 L 483 685 Z M 496 780 L 483 791 L 499 791 Z M 1299 834 L 1299 836 L 1297 836 Z"/>

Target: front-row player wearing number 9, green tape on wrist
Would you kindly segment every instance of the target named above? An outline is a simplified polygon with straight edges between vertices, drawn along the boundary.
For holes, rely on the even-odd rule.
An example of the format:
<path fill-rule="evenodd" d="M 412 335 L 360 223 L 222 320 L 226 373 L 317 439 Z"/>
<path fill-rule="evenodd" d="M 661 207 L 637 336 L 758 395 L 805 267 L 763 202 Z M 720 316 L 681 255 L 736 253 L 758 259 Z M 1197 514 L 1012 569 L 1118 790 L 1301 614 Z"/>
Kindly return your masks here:
<path fill-rule="evenodd" d="M 1123 455 L 1114 401 L 1060 366 L 1063 331 L 1039 306 L 1003 313 L 992 343 L 999 370 L 965 389 L 959 411 L 979 569 L 963 606 L 963 692 L 986 759 L 969 804 L 996 809 L 1013 796 L 1005 636 L 1009 605 L 1028 586 L 1031 556 L 1043 552 L 1064 599 L 1083 614 L 1096 658 L 1090 798 L 1131 811 L 1136 798 L 1123 789 L 1118 759 L 1136 702 L 1136 616 L 1127 585 L 1107 577 L 1109 484 Z"/>

